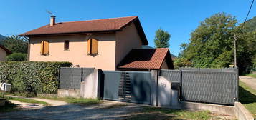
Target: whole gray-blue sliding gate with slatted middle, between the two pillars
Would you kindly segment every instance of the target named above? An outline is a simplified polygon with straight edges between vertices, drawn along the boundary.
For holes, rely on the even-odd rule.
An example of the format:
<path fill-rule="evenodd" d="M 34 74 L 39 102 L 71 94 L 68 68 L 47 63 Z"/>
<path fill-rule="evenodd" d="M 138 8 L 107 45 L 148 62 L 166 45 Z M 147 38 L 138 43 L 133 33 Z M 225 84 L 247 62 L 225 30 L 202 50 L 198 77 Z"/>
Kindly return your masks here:
<path fill-rule="evenodd" d="M 103 99 L 151 104 L 153 80 L 148 71 L 103 71 Z"/>

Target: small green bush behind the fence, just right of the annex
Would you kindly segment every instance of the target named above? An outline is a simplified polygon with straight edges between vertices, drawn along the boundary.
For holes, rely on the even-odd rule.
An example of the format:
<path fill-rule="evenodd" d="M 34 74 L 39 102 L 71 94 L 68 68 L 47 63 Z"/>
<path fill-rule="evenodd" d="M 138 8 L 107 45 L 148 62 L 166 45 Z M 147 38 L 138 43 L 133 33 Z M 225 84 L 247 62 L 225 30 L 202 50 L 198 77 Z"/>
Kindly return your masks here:
<path fill-rule="evenodd" d="M 174 60 L 174 69 L 179 69 L 180 67 L 191 67 L 192 64 L 188 59 L 176 58 Z"/>

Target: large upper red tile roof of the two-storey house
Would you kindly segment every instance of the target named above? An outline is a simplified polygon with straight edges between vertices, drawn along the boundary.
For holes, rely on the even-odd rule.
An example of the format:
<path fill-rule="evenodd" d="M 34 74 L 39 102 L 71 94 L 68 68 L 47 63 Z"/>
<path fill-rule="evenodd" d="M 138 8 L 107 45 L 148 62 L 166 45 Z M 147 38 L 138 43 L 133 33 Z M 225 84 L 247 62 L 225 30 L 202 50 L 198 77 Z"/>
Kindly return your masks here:
<path fill-rule="evenodd" d="M 146 36 L 142 29 L 141 23 L 138 20 L 138 16 L 128 16 L 113 19 L 96 19 L 90 21 L 70 21 L 60 22 L 54 26 L 42 26 L 38 29 L 28 31 L 20 36 L 34 36 L 34 35 L 46 35 L 46 34 L 77 34 L 77 33 L 93 33 L 104 31 L 120 31 L 127 24 L 134 22 L 138 29 L 138 34 L 141 36 L 143 44 L 148 44 Z"/>

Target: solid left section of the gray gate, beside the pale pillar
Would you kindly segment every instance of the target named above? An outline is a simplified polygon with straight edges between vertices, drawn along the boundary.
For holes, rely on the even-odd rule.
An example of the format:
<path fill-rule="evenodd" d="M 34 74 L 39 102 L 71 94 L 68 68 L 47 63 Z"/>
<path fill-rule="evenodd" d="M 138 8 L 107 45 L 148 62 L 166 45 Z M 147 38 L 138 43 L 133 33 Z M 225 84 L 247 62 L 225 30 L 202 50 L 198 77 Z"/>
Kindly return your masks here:
<path fill-rule="evenodd" d="M 104 74 L 104 96 L 103 99 L 120 101 L 118 99 L 118 87 L 122 72 L 103 71 Z"/>

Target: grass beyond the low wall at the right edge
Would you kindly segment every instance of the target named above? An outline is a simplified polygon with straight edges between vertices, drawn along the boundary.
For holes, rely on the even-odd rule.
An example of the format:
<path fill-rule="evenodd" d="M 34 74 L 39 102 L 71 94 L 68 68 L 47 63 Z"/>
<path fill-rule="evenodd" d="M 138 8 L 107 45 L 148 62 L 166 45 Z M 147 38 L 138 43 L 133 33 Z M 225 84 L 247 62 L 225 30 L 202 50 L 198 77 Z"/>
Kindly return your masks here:
<path fill-rule="evenodd" d="M 239 95 L 240 102 L 256 119 L 256 90 L 250 88 L 244 82 L 240 81 Z"/>

